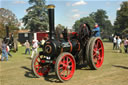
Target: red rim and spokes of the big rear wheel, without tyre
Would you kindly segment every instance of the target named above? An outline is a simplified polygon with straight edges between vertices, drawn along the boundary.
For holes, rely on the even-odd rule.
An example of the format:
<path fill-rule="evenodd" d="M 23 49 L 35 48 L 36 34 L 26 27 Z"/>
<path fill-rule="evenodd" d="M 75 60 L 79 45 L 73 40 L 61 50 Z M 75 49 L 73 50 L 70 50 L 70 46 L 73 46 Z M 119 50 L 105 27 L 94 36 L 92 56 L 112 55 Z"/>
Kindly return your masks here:
<path fill-rule="evenodd" d="M 104 60 L 104 46 L 100 39 L 95 41 L 93 47 L 93 62 L 97 68 L 101 67 Z"/>

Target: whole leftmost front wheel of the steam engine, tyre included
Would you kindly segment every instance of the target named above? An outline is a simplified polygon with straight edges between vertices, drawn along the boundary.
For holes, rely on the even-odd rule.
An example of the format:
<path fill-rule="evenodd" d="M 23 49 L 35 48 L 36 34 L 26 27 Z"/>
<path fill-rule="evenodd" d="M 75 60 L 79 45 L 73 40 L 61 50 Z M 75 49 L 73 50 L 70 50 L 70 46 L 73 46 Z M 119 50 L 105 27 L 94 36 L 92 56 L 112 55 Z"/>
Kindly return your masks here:
<path fill-rule="evenodd" d="M 32 70 L 36 77 L 42 77 L 48 75 L 50 71 L 50 64 L 45 63 L 43 55 L 37 55 L 32 60 Z"/>

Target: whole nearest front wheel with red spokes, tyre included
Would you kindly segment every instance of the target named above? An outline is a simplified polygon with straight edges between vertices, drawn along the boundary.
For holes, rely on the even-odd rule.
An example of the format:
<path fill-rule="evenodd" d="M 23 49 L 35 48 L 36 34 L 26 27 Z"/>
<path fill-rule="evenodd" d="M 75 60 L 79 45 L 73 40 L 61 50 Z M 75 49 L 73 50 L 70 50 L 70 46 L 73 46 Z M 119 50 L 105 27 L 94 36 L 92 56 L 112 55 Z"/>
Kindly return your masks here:
<path fill-rule="evenodd" d="M 59 80 L 64 82 L 72 78 L 75 67 L 76 63 L 72 54 L 64 52 L 56 60 L 55 72 Z"/>

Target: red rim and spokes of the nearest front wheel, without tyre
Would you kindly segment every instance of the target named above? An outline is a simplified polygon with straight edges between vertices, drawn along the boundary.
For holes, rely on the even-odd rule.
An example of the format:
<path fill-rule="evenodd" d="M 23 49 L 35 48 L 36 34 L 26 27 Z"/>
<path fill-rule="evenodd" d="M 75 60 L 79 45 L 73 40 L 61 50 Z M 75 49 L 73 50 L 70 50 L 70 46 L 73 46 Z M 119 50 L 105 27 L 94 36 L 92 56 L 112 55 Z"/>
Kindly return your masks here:
<path fill-rule="evenodd" d="M 72 78 L 75 72 L 75 61 L 71 55 L 64 55 L 58 64 L 59 76 L 63 80 Z"/>

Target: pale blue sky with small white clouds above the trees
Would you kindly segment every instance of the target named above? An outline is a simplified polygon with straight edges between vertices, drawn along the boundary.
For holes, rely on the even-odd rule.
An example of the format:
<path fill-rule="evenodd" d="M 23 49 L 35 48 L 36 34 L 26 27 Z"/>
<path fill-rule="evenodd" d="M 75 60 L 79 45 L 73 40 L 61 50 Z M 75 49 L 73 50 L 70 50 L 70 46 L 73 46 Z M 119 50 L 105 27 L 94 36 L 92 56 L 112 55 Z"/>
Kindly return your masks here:
<path fill-rule="evenodd" d="M 29 0 L 0 0 L 0 8 L 11 10 L 21 20 L 27 14 L 26 9 L 31 5 Z M 112 24 L 120 4 L 126 0 L 46 0 L 46 5 L 54 4 L 55 25 L 62 24 L 69 29 L 76 20 L 89 16 L 90 13 L 103 9 L 107 12 Z"/>

